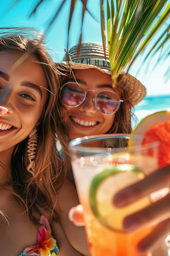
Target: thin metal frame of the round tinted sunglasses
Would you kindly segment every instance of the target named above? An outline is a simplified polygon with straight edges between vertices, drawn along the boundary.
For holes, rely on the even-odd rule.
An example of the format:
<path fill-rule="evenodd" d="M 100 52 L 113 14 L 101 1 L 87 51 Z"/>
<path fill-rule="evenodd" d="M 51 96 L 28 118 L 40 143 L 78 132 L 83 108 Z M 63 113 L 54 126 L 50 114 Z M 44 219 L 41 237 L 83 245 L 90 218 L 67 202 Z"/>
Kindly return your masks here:
<path fill-rule="evenodd" d="M 84 90 L 84 99 L 83 99 L 83 101 L 82 101 L 81 103 L 79 103 L 79 104 L 76 105 L 76 106 L 66 105 L 65 103 L 63 103 L 63 101 L 62 101 L 62 99 L 61 99 L 61 91 L 62 91 L 62 88 L 63 88 L 65 85 L 70 84 L 70 83 L 76 84 L 76 85 L 78 85 L 80 88 L 82 88 L 82 89 Z M 90 89 L 86 91 L 81 85 L 79 85 L 79 83 L 71 82 L 71 81 L 70 81 L 70 82 L 64 83 L 64 84 L 60 87 L 59 97 L 60 97 L 60 100 L 61 100 L 61 102 L 62 102 L 62 104 L 63 104 L 64 106 L 69 107 L 69 108 L 75 108 L 75 107 L 80 106 L 80 105 L 85 101 L 85 99 L 86 99 L 86 94 L 87 94 L 88 91 L 95 92 L 95 90 L 90 90 Z M 104 115 L 111 115 L 111 114 L 114 114 L 115 112 L 117 112 L 117 110 L 119 110 L 119 108 L 120 108 L 121 102 L 124 102 L 123 99 L 115 100 L 115 102 L 118 102 L 119 104 L 118 104 L 116 110 L 113 111 L 113 112 L 111 112 L 111 113 L 104 113 L 104 112 L 102 112 L 101 110 L 99 110 L 99 109 L 97 108 L 96 99 L 97 99 L 98 94 L 101 93 L 101 92 L 112 92 L 113 94 L 115 94 L 115 95 L 118 96 L 118 94 L 116 94 L 115 92 L 113 92 L 113 91 L 111 91 L 111 90 L 102 90 L 102 91 L 97 92 L 97 93 L 95 94 L 95 97 L 93 97 L 93 100 L 94 100 L 94 102 L 95 102 L 95 108 L 96 108 L 99 112 L 101 112 L 102 114 L 104 114 Z M 118 96 L 118 97 L 119 97 L 119 96 Z"/>

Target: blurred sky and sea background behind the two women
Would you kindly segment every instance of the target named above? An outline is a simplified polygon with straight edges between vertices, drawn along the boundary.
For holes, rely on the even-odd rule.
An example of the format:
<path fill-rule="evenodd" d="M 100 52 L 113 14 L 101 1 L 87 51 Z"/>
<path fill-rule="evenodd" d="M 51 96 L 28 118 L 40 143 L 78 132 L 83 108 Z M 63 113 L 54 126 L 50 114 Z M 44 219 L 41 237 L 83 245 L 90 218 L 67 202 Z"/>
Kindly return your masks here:
<path fill-rule="evenodd" d="M 16 4 L 14 4 L 16 2 Z M 60 7 L 62 0 L 45 0 L 40 4 L 35 14 L 31 17 L 30 13 L 40 0 L 1 0 L 0 7 L 0 26 L 22 26 L 41 29 L 46 34 L 47 45 L 55 50 L 51 52 L 55 61 L 62 61 L 64 48 L 67 47 L 68 18 L 71 0 L 67 0 L 63 5 L 57 19 L 51 28 L 46 31 L 51 19 Z M 82 43 L 102 42 L 100 30 L 100 4 L 99 0 L 88 1 L 88 11 L 84 16 L 82 27 Z M 13 5 L 14 4 L 14 5 Z M 82 20 L 82 2 L 77 0 L 77 6 L 73 13 L 71 22 L 69 49 L 78 43 Z M 167 20 L 170 23 L 170 19 Z M 151 41 L 151 45 L 154 41 Z M 167 42 L 163 49 L 155 56 L 143 62 L 145 52 L 141 54 L 129 73 L 135 76 L 146 86 L 147 95 L 140 103 L 135 106 L 135 115 L 143 119 L 153 112 L 170 109 L 170 43 Z M 167 51 L 167 58 L 161 59 L 161 54 Z M 157 63 L 159 63 L 157 65 Z"/>

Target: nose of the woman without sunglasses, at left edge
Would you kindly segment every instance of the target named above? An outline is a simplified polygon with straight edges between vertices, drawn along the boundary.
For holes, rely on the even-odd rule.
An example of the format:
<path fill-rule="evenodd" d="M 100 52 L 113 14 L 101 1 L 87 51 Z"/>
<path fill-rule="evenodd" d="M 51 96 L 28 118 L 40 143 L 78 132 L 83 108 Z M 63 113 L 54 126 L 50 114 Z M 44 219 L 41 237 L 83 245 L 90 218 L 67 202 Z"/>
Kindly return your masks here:
<path fill-rule="evenodd" d="M 0 114 L 4 115 L 7 112 L 12 112 L 13 108 L 11 106 L 11 89 L 9 87 L 5 87 L 2 92 L 0 92 Z"/>

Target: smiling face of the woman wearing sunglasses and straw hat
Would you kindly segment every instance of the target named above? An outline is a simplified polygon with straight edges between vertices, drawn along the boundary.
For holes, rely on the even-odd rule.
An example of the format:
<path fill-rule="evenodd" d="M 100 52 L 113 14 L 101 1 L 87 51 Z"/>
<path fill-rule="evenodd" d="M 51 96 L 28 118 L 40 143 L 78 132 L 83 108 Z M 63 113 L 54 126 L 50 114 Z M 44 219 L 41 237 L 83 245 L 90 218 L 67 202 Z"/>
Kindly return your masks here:
<path fill-rule="evenodd" d="M 69 139 L 90 135 L 104 134 L 113 125 L 115 113 L 106 115 L 96 109 L 94 97 L 102 90 L 113 90 L 111 76 L 91 68 L 87 70 L 75 70 L 74 76 L 77 82 L 88 91 L 85 101 L 77 107 L 66 107 L 65 123 Z"/>

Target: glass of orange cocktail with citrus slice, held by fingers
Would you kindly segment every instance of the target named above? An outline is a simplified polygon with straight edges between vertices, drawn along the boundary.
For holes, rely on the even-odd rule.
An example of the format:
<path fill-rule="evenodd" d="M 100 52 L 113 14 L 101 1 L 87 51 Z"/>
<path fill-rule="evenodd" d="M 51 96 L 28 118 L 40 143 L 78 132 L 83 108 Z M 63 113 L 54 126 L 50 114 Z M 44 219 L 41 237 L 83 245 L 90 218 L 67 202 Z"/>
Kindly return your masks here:
<path fill-rule="evenodd" d="M 128 146 L 135 140 L 136 146 Z M 131 143 L 130 143 L 131 144 Z M 128 207 L 114 208 L 114 194 L 157 169 L 159 141 L 141 145 L 141 136 L 126 134 L 77 138 L 69 143 L 79 201 L 84 208 L 91 256 L 139 256 L 137 244 L 152 227 L 132 233 L 123 229 L 125 216 L 151 203 L 146 196 Z M 144 256 L 151 256 L 150 252 Z"/>

